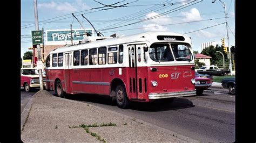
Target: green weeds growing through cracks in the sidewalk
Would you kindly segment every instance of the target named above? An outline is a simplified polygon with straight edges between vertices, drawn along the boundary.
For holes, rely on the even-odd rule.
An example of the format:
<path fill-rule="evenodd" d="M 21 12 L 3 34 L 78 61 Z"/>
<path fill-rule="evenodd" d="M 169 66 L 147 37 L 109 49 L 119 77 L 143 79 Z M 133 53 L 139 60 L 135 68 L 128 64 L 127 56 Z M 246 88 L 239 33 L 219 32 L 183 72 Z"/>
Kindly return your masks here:
<path fill-rule="evenodd" d="M 100 135 L 98 135 L 97 133 L 90 132 L 90 130 L 89 130 L 89 127 L 105 127 L 105 126 L 117 126 L 117 124 L 116 123 L 111 123 L 111 122 L 110 123 L 101 123 L 101 124 L 93 123 L 93 124 L 89 124 L 89 125 L 80 124 L 79 126 L 74 126 L 74 125 L 69 126 L 69 128 L 82 127 L 82 128 L 84 128 L 85 132 L 90 133 L 92 135 L 92 137 L 96 137 L 99 141 L 106 142 L 104 139 L 102 139 L 100 137 Z"/>

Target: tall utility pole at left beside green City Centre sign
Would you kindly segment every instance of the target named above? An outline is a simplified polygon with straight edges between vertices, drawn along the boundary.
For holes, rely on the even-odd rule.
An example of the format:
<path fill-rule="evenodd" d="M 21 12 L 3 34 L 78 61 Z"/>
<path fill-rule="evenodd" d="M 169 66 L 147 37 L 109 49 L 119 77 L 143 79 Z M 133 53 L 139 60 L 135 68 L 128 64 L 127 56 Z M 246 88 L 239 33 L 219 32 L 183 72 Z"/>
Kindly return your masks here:
<path fill-rule="evenodd" d="M 34 0 L 34 11 L 35 11 L 36 30 L 39 30 L 38 16 L 37 16 L 37 0 Z M 39 61 L 39 63 L 42 63 L 40 44 L 37 44 L 36 47 L 37 47 L 37 60 Z M 44 90 L 42 69 L 38 69 L 38 73 L 39 73 L 40 90 Z"/>

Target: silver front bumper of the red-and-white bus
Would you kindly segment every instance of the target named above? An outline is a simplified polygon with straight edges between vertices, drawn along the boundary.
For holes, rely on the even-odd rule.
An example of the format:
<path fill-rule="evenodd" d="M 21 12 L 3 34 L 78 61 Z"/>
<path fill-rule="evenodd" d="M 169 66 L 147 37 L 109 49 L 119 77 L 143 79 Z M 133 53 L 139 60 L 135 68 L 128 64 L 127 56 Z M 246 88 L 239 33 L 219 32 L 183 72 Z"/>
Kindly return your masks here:
<path fill-rule="evenodd" d="M 151 93 L 149 99 L 161 99 L 161 98 L 172 98 L 172 97 L 184 97 L 196 95 L 196 90 L 193 91 L 181 91 L 181 92 L 168 92 L 168 93 Z"/>

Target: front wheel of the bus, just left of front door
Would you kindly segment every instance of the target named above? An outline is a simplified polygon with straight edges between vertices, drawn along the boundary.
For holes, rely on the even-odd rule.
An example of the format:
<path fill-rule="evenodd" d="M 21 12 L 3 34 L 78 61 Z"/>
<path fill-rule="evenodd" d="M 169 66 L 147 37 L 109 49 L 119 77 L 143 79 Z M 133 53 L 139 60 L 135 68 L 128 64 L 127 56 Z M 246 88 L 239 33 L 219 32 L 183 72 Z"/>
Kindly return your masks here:
<path fill-rule="evenodd" d="M 126 91 L 122 85 L 118 85 L 116 88 L 116 100 L 117 106 L 122 109 L 126 109 L 129 106 L 129 99 L 127 98 Z"/>

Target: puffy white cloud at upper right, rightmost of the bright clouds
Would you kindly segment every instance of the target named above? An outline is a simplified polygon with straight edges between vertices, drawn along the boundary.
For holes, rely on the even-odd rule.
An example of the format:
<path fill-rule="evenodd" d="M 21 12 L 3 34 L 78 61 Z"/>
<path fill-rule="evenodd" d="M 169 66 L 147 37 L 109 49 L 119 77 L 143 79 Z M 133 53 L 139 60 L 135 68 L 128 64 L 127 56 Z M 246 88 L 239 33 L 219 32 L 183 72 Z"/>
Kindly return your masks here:
<path fill-rule="evenodd" d="M 189 12 L 181 12 L 181 15 L 186 16 L 182 19 L 183 22 L 203 20 L 203 18 L 200 16 L 200 12 L 196 8 L 191 9 Z"/>

